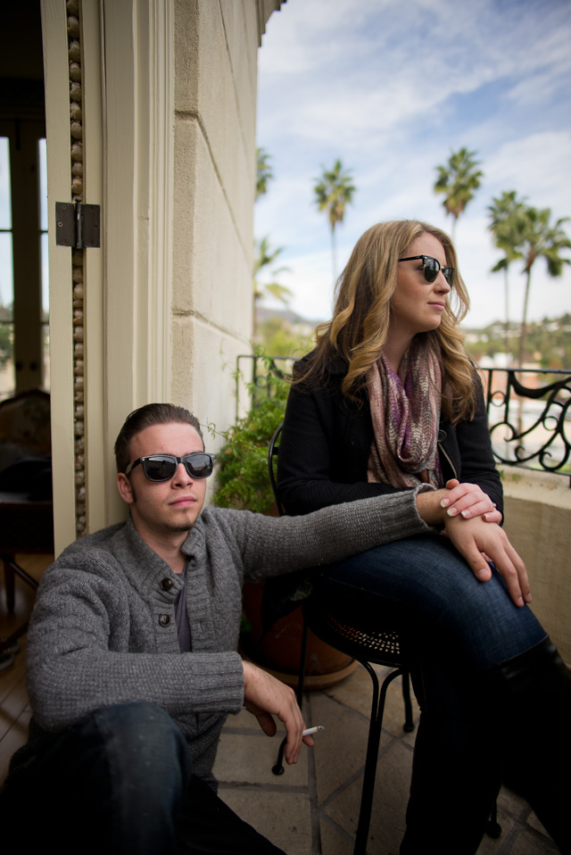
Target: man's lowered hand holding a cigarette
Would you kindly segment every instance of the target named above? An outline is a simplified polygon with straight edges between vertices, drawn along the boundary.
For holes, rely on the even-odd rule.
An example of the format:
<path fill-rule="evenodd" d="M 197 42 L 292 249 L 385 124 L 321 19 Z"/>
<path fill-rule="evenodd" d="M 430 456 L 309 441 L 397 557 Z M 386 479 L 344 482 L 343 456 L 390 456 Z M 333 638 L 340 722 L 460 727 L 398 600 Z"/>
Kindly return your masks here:
<path fill-rule="evenodd" d="M 256 668 L 251 662 L 243 661 L 242 667 L 244 707 L 258 719 L 261 729 L 269 736 L 275 735 L 277 729 L 272 716 L 284 722 L 287 735 L 284 757 L 288 763 L 297 763 L 302 741 L 306 745 L 313 745 L 313 740 L 310 736 L 302 737 L 305 724 L 293 689 L 261 668 Z"/>

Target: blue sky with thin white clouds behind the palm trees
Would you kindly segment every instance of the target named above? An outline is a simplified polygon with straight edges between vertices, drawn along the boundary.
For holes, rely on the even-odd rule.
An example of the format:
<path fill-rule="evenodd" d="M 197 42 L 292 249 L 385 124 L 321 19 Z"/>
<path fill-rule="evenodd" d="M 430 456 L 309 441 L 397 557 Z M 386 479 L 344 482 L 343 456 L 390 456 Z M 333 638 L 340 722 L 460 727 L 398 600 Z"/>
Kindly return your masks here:
<path fill-rule="evenodd" d="M 255 235 L 283 247 L 277 280 L 310 320 L 331 316 L 330 228 L 314 202 L 337 159 L 357 187 L 336 228 L 338 271 L 383 220 L 449 231 L 436 166 L 466 146 L 484 178 L 456 228 L 471 299 L 464 325 L 505 320 L 501 253 L 487 206 L 504 190 L 571 216 L 569 0 L 287 0 L 259 51 L 257 145 L 274 179 L 255 206 Z M 571 222 L 564 228 L 571 237 Z M 571 252 L 567 255 L 571 258 Z M 509 273 L 509 318 L 521 320 L 525 278 Z M 266 305 L 277 305 L 265 300 Z M 571 311 L 571 265 L 550 279 L 536 261 L 529 320 Z"/>

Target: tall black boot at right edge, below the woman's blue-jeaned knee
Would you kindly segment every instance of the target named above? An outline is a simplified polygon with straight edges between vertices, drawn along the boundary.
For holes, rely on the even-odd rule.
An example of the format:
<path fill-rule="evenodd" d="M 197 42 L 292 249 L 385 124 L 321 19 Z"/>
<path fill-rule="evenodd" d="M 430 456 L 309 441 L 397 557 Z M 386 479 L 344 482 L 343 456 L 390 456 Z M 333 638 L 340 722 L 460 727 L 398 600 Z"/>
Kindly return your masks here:
<path fill-rule="evenodd" d="M 549 638 L 487 673 L 506 713 L 506 783 L 569 855 L 571 675 Z"/>

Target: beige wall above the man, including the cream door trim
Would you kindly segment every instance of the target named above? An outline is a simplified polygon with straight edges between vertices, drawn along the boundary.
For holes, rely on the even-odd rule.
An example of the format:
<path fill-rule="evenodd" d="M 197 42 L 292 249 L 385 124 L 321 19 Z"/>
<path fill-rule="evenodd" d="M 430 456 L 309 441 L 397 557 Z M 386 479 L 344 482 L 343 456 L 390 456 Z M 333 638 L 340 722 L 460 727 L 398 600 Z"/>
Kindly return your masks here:
<path fill-rule="evenodd" d="M 280 4 L 82 0 L 83 201 L 102 209 L 101 249 L 84 257 L 87 531 L 124 515 L 112 443 L 129 411 L 170 400 L 221 429 L 235 418 L 231 375 L 252 334 L 257 52 Z M 69 145 L 55 142 L 70 136 L 62 0 L 42 0 L 42 21 L 53 210 L 70 197 Z M 50 253 L 59 552 L 78 475 L 70 250 L 52 234 Z"/>

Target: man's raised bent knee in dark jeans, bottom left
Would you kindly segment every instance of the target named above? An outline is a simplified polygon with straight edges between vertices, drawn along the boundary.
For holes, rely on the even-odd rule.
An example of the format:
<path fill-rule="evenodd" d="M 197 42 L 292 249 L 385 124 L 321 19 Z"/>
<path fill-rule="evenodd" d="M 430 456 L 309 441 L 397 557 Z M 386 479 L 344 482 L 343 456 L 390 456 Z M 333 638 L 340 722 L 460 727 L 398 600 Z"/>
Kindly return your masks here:
<path fill-rule="evenodd" d="M 121 703 L 94 710 L 56 738 L 8 793 L 12 802 L 41 793 L 38 829 L 62 852 L 75 851 L 78 839 L 87 852 L 128 851 L 117 842 L 174 840 L 191 773 L 186 741 L 169 714 L 150 703 Z M 31 851 L 39 832 L 26 833 Z"/>

